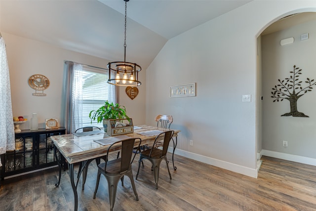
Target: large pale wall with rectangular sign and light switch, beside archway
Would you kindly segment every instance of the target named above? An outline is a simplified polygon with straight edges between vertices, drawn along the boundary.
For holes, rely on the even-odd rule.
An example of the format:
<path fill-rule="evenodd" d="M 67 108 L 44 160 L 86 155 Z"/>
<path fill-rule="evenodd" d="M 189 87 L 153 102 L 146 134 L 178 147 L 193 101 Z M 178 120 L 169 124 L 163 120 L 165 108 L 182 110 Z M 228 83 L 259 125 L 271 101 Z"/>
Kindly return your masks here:
<path fill-rule="evenodd" d="M 146 123 L 171 114 L 178 154 L 256 177 L 257 37 L 304 10 L 316 1 L 254 0 L 169 40 L 147 69 Z M 196 97 L 169 98 L 170 85 L 194 82 Z"/>

